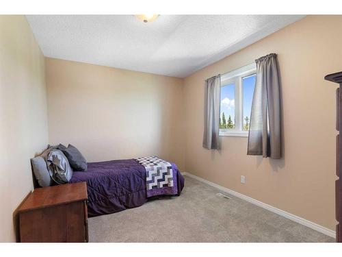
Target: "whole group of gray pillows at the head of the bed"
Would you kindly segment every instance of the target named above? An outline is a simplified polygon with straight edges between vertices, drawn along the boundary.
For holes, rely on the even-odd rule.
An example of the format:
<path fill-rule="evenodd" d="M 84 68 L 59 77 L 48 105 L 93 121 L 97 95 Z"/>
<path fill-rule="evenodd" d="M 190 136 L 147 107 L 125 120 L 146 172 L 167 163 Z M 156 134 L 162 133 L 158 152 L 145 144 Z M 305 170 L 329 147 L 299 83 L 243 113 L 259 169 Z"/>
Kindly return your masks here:
<path fill-rule="evenodd" d="M 73 171 L 86 171 L 87 161 L 73 145 L 48 146 L 40 156 L 31 159 L 34 176 L 40 186 L 66 184 Z"/>

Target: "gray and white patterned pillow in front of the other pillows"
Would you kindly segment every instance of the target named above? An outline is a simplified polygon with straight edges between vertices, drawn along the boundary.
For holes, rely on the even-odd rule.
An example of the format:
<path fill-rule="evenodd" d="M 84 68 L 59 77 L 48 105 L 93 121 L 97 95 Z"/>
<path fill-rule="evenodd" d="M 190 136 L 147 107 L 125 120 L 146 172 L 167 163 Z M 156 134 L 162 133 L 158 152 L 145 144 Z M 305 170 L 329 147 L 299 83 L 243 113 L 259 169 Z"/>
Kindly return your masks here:
<path fill-rule="evenodd" d="M 47 157 L 47 166 L 57 184 L 66 184 L 73 177 L 73 169 L 70 167 L 68 158 L 58 149 L 50 151 Z"/>

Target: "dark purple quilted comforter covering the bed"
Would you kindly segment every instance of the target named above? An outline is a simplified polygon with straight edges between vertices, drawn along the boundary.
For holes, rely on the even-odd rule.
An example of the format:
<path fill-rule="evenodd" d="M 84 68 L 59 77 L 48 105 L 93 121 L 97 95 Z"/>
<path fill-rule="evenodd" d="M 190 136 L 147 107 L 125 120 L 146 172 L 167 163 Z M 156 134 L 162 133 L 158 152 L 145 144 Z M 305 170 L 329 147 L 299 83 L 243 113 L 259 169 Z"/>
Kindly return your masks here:
<path fill-rule="evenodd" d="M 178 191 L 184 187 L 183 175 L 176 164 Z M 88 216 L 94 217 L 144 204 L 146 197 L 146 170 L 136 160 L 89 162 L 87 171 L 74 171 L 70 183 L 87 182 Z"/>

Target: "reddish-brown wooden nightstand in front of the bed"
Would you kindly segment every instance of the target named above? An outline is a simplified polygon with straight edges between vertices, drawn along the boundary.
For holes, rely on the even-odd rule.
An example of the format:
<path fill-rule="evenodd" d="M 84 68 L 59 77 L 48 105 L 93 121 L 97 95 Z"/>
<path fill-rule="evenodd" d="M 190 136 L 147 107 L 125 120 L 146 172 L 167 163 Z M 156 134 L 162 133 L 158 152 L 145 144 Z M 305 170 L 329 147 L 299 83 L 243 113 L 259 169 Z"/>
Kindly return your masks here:
<path fill-rule="evenodd" d="M 87 184 L 36 188 L 18 209 L 21 242 L 88 242 Z"/>

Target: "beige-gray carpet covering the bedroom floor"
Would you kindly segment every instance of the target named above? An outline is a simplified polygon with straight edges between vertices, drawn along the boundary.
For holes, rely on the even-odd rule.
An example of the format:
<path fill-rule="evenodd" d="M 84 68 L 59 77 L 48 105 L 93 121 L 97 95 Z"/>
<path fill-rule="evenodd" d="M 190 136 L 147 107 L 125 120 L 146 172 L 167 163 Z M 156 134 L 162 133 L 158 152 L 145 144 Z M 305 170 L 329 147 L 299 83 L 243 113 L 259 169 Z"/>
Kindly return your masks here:
<path fill-rule="evenodd" d="M 334 242 L 334 239 L 185 176 L 180 197 L 89 219 L 90 242 Z"/>

